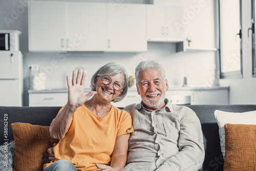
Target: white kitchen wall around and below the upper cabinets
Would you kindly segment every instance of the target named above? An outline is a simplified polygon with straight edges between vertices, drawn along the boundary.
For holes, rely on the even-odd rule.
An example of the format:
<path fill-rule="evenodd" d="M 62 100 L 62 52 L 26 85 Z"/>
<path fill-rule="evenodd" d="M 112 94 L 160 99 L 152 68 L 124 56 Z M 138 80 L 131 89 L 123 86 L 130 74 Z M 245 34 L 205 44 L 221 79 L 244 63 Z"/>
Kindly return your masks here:
<path fill-rule="evenodd" d="M 168 4 L 185 5 L 184 14 L 191 13 L 191 6 L 195 7 L 200 1 L 196 0 L 169 0 Z M 90 78 L 102 65 L 115 61 L 123 65 L 132 75 L 136 65 L 143 59 L 154 58 L 162 62 L 166 69 L 166 77 L 169 84 L 182 84 L 183 77 L 190 78 L 191 84 L 204 84 L 206 87 L 216 78 L 215 61 L 216 52 L 201 53 L 176 53 L 176 45 L 169 43 L 148 43 L 148 51 L 144 53 L 71 53 L 66 57 L 59 57 L 57 53 L 31 53 L 28 52 L 28 11 L 24 3 L 26 0 L 3 0 L 0 1 L 0 29 L 20 30 L 20 50 L 24 55 L 24 105 L 28 105 L 28 65 L 38 64 L 41 72 L 46 72 L 47 89 L 66 88 L 66 75 L 71 75 L 76 67 L 87 70 L 86 87 L 89 88 Z M 82 2 L 123 2 L 147 4 L 148 1 L 82 1 Z M 216 15 L 214 1 L 205 0 L 205 7 L 190 16 L 185 25 L 185 36 L 193 38 L 195 47 L 216 47 Z M 118 4 L 122 5 L 122 3 Z M 13 18 L 13 11 L 24 8 L 24 12 Z M 13 22 L 6 24 L 4 18 L 13 18 Z M 49 26 L 50 27 L 50 26 Z M 40 33 L 39 33 L 40 34 Z M 52 65 L 52 62 L 57 65 Z M 218 81 L 217 81 L 218 82 Z"/>

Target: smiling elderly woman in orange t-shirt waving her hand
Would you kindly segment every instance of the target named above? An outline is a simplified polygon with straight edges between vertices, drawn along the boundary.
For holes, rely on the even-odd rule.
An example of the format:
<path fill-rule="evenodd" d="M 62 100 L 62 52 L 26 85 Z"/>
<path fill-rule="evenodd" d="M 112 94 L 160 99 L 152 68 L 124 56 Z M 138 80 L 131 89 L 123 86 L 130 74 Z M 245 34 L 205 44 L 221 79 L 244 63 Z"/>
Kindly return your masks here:
<path fill-rule="evenodd" d="M 44 171 L 121 170 L 125 165 L 132 118 L 111 101 L 125 97 L 126 71 L 116 63 L 104 65 L 93 75 L 93 91 L 87 95 L 85 79 L 80 70 L 77 76 L 73 71 L 72 81 L 67 76 L 68 103 L 50 125 L 51 136 L 60 139 L 53 148 L 56 159 L 45 164 Z"/>

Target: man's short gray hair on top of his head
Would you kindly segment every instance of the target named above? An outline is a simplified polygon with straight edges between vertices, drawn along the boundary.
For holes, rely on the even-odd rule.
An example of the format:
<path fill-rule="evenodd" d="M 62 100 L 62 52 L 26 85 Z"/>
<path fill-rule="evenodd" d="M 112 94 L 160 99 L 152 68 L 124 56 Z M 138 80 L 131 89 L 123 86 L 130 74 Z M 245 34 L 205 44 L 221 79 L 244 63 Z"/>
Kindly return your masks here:
<path fill-rule="evenodd" d="M 136 78 L 136 82 L 138 85 L 139 82 L 139 74 L 141 71 L 145 71 L 147 69 L 157 69 L 162 73 L 162 78 L 164 81 L 166 81 L 166 77 L 165 77 L 165 70 L 164 70 L 164 66 L 155 59 L 147 59 L 147 60 L 142 60 L 136 67 L 135 69 L 135 78 Z"/>

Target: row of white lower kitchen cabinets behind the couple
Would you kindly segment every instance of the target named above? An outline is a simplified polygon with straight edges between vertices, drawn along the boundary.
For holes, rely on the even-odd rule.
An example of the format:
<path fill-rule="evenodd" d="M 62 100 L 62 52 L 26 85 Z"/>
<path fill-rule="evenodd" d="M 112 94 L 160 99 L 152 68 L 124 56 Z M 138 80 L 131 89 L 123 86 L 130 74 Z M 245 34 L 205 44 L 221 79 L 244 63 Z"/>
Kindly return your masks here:
<path fill-rule="evenodd" d="M 84 89 L 87 94 L 91 89 Z M 29 90 L 29 106 L 63 106 L 68 101 L 67 89 Z M 204 87 L 169 87 L 165 98 L 173 104 L 229 104 L 229 86 Z M 141 97 L 136 88 L 130 88 L 122 101 L 112 102 L 116 107 L 124 108 L 133 103 L 140 103 Z"/>

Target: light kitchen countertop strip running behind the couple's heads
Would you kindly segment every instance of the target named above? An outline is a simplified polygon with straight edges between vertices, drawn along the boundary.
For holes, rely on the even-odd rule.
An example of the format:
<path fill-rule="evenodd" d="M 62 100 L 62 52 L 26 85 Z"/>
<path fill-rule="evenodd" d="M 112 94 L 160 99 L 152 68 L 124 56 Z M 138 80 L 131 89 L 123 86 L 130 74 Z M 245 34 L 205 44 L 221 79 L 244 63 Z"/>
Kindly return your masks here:
<path fill-rule="evenodd" d="M 229 86 L 205 86 L 205 85 L 191 85 L 182 87 L 180 85 L 170 85 L 169 91 L 185 91 L 185 90 L 229 90 Z M 84 89 L 84 92 L 90 92 L 90 88 Z M 137 91 L 136 86 L 128 88 L 128 92 Z M 32 93 L 68 93 L 68 89 L 47 89 L 47 90 L 28 90 Z"/>

